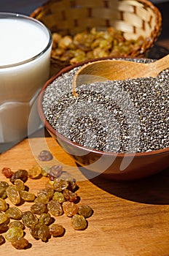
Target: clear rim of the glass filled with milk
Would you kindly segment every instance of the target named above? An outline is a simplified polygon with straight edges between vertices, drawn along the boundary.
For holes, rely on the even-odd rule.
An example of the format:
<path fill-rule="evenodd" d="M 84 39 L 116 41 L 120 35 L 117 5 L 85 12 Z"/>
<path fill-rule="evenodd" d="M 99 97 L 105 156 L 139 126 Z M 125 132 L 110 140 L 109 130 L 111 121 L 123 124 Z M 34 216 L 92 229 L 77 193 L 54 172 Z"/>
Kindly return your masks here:
<path fill-rule="evenodd" d="M 47 50 L 52 45 L 52 33 L 51 33 L 50 29 L 48 29 L 47 26 L 45 26 L 41 21 L 36 20 L 35 18 L 31 18 L 30 16 L 23 15 L 20 13 L 15 13 L 15 12 L 0 12 L 0 19 L 1 18 L 17 18 L 17 19 L 19 18 L 20 20 L 31 20 L 31 22 L 38 24 L 39 26 L 41 26 L 43 29 L 45 29 L 47 31 L 47 33 L 49 35 L 49 40 L 47 42 L 47 46 L 40 53 L 37 53 L 35 56 L 33 56 L 29 59 L 25 59 L 24 61 L 19 61 L 14 64 L 0 65 L 0 70 L 6 69 L 9 67 L 17 67 L 17 66 L 20 66 L 23 64 L 27 64 L 31 61 L 34 61 L 35 59 L 38 59 L 40 56 L 42 56 L 45 52 L 47 52 Z"/>

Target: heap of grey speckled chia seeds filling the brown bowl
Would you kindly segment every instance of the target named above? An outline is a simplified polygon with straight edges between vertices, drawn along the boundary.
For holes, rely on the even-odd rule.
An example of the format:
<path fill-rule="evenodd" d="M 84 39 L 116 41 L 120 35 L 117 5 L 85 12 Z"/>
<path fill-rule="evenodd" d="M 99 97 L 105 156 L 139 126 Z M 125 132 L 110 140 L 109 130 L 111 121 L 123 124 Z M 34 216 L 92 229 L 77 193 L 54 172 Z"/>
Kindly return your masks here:
<path fill-rule="evenodd" d="M 72 81 L 79 68 L 56 78 L 44 91 L 44 116 L 54 129 L 101 151 L 146 152 L 169 147 L 169 69 L 157 78 L 82 85 L 76 89 L 76 98 Z"/>

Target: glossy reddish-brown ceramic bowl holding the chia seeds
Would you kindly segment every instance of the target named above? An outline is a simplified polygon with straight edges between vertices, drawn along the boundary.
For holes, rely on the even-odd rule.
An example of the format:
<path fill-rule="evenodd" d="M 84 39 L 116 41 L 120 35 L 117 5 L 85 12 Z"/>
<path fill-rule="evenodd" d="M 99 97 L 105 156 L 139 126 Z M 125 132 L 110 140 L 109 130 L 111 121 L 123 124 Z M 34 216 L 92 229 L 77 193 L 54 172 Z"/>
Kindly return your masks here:
<path fill-rule="evenodd" d="M 63 137 L 63 135 L 60 135 L 60 133 L 50 125 L 45 118 L 44 111 L 42 109 L 42 99 L 45 89 L 53 80 L 63 73 L 74 69 L 74 67 L 82 66 L 82 64 L 86 62 L 71 65 L 62 69 L 58 74 L 50 78 L 50 80 L 44 84 L 42 91 L 39 94 L 39 116 L 42 119 L 44 126 L 50 132 L 50 135 L 52 135 L 64 151 L 74 158 L 79 169 L 84 171 L 85 175 L 89 178 L 101 174 L 105 178 L 112 180 L 127 181 L 151 176 L 152 174 L 169 167 L 169 148 L 135 154 L 117 154 L 98 151 L 68 140 Z"/>

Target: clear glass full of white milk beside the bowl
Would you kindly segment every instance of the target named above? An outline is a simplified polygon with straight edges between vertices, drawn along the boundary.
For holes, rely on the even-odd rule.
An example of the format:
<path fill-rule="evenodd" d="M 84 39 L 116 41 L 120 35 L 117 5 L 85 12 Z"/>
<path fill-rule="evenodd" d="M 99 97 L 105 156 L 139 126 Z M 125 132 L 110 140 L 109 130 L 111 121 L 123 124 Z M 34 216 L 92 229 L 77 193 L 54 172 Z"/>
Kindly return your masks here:
<path fill-rule="evenodd" d="M 35 102 L 50 75 L 52 35 L 34 18 L 0 12 L 0 152 L 41 126 Z"/>

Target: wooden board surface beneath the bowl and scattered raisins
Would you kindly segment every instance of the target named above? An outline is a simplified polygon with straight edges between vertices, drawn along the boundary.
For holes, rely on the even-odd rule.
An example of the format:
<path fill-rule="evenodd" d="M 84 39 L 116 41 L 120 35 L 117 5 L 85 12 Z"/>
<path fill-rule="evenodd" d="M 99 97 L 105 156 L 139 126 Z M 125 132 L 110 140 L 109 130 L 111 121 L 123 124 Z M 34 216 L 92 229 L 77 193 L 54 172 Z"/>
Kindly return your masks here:
<path fill-rule="evenodd" d="M 167 256 L 169 255 L 169 176 L 168 170 L 141 181 L 106 181 L 98 176 L 87 180 L 71 157 L 63 152 L 53 138 L 24 140 L 0 155 L 0 170 L 10 167 L 13 171 L 28 169 L 37 162 L 40 151 L 48 149 L 54 159 L 43 165 L 63 165 L 63 170 L 76 176 L 79 204 L 93 208 L 93 216 L 87 219 L 86 230 L 71 227 L 71 219 L 57 217 L 63 225 L 63 237 L 51 238 L 44 243 L 34 240 L 28 229 L 25 238 L 31 248 L 17 250 L 6 241 L 0 246 L 1 255 L 97 255 L 97 256 Z M 7 181 L 0 171 L 0 180 Z M 47 183 L 47 178 L 28 179 L 30 192 L 37 192 Z M 19 208 L 26 211 L 31 203 Z"/>

